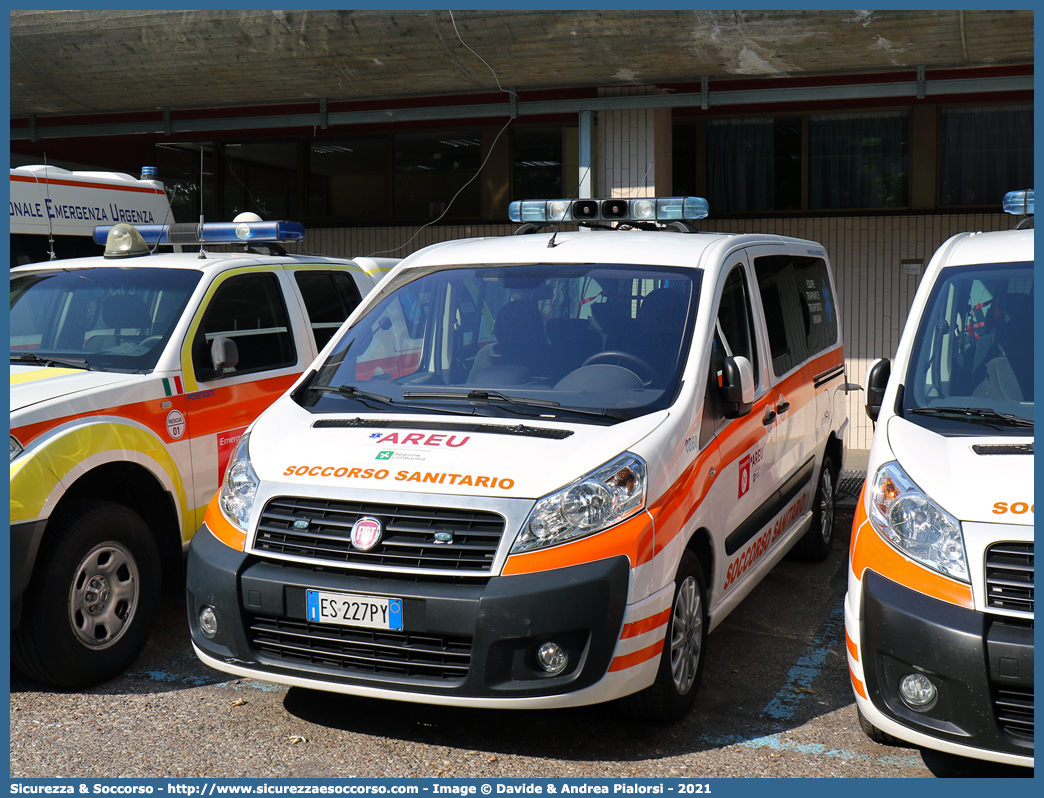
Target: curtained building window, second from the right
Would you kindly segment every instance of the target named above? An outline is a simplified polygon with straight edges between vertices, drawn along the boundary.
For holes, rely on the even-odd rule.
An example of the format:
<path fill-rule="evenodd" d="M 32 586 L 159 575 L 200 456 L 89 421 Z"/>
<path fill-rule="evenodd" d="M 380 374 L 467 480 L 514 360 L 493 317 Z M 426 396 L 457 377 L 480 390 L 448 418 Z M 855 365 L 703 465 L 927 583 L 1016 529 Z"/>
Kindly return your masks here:
<path fill-rule="evenodd" d="M 810 210 L 909 204 L 909 114 L 824 114 L 808 119 Z"/>

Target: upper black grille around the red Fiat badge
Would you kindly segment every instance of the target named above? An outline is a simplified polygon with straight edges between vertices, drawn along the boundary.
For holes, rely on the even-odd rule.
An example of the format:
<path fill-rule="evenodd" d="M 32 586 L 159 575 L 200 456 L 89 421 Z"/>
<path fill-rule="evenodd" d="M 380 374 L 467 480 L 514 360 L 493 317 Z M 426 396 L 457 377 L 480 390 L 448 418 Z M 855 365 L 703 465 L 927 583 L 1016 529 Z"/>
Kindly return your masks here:
<path fill-rule="evenodd" d="M 351 542 L 352 525 L 363 516 L 384 526 L 366 551 Z M 296 530 L 294 521 L 308 526 Z M 488 573 L 503 532 L 502 516 L 478 510 L 282 496 L 265 506 L 254 548 L 343 565 Z M 436 534 L 448 542 L 436 542 Z"/>

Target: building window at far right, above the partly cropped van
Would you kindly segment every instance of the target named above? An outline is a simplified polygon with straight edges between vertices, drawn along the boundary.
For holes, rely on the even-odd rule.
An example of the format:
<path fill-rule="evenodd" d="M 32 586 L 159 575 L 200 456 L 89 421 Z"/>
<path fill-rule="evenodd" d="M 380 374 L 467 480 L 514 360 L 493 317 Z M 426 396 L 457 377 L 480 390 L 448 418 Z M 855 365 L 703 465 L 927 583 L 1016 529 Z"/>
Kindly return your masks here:
<path fill-rule="evenodd" d="M 997 206 L 1034 185 L 1033 105 L 943 109 L 942 206 Z"/>

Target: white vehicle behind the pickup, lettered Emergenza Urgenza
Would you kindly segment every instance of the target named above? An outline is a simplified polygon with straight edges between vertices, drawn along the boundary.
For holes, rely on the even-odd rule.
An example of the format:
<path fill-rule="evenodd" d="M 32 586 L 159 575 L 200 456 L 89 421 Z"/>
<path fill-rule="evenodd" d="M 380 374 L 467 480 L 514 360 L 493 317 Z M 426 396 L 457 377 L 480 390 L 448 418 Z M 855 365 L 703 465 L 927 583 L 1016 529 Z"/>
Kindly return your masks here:
<path fill-rule="evenodd" d="M 101 255 L 99 225 L 175 221 L 155 166 L 141 179 L 114 171 L 69 171 L 55 166 L 10 170 L 10 265 Z M 104 242 L 102 242 L 104 243 Z"/>

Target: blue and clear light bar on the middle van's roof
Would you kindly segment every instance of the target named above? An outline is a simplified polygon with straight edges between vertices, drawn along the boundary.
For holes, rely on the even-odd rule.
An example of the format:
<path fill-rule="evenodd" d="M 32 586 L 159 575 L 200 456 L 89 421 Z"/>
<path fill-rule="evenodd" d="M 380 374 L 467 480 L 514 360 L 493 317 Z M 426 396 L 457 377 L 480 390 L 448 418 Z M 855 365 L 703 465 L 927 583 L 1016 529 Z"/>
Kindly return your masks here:
<path fill-rule="evenodd" d="M 507 206 L 512 221 L 688 221 L 707 218 L 710 206 L 702 196 L 638 197 L 636 199 L 516 199 Z"/>

